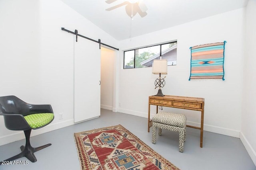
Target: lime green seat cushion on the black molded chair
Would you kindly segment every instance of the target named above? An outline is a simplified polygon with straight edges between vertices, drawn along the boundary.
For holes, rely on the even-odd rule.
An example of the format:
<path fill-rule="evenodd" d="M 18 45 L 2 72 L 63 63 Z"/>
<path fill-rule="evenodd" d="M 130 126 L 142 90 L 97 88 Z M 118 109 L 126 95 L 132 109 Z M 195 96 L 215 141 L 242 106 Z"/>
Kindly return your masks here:
<path fill-rule="evenodd" d="M 36 129 L 38 127 L 42 127 L 52 121 L 54 118 L 53 113 L 35 113 L 31 115 L 24 116 L 26 121 L 28 122 L 28 125 L 32 129 Z"/>

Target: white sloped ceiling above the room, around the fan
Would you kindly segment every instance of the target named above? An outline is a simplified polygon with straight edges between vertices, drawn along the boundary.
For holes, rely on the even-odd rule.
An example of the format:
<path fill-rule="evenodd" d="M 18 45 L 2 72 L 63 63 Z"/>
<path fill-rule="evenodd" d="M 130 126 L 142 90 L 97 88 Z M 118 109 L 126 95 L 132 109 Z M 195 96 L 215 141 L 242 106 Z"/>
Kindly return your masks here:
<path fill-rule="evenodd" d="M 147 10 L 140 6 L 143 8 L 142 11 L 136 13 L 138 4 L 134 4 L 134 0 L 62 1 L 117 40 L 243 8 L 248 2 L 248 0 L 143 0 Z M 112 7 L 115 9 L 112 10 Z M 107 11 L 108 8 L 110 9 Z M 133 17 L 130 16 L 132 10 Z"/>

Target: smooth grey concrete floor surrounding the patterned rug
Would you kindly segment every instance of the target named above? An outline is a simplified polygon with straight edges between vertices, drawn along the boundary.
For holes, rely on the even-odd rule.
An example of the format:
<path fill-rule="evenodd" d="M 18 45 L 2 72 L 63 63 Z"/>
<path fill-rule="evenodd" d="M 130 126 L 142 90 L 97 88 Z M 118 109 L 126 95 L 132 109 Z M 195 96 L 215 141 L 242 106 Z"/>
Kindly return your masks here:
<path fill-rule="evenodd" d="M 151 143 L 152 131 L 147 132 L 147 119 L 101 109 L 99 118 L 31 137 L 33 147 L 52 143 L 50 147 L 35 152 L 37 162 L 21 165 L 1 165 L 0 170 L 80 170 L 74 133 L 122 125 L 146 145 L 161 154 L 181 170 L 256 170 L 241 140 L 204 131 L 203 148 L 200 148 L 200 130 L 187 128 L 184 152 L 178 151 L 178 133 L 163 130 Z M 32 131 L 33 133 L 33 131 Z M 25 139 L 0 146 L 0 160 L 20 152 Z M 27 158 L 18 160 L 26 161 Z"/>

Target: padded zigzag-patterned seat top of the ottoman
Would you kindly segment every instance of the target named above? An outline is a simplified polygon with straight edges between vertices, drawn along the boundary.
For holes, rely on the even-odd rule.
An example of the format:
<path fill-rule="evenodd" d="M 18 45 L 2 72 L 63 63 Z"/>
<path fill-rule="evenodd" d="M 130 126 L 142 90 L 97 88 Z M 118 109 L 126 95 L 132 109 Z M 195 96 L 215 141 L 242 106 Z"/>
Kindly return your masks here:
<path fill-rule="evenodd" d="M 178 127 L 184 127 L 186 125 L 186 115 L 169 113 L 169 112 L 159 112 L 152 118 L 153 122 L 163 123 L 165 125 L 172 125 Z"/>

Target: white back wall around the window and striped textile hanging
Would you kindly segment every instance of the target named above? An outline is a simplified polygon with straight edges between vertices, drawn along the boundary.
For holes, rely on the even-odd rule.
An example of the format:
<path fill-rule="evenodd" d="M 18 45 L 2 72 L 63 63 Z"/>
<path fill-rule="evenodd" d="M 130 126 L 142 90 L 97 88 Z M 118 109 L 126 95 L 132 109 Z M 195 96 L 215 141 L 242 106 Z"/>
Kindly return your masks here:
<path fill-rule="evenodd" d="M 177 65 L 168 66 L 166 95 L 205 98 L 204 130 L 233 137 L 240 136 L 243 80 L 244 8 L 192 21 L 161 31 L 120 41 L 118 68 L 118 111 L 148 117 L 148 96 L 155 95 L 152 68 L 123 69 L 123 51 L 145 45 L 177 40 Z M 225 46 L 225 79 L 188 81 L 190 75 L 190 47 L 227 41 Z M 155 111 L 152 106 L 152 113 Z M 199 125 L 200 112 L 164 108 L 185 113 L 188 124 Z M 145 131 L 147 121 L 144 122 Z"/>

